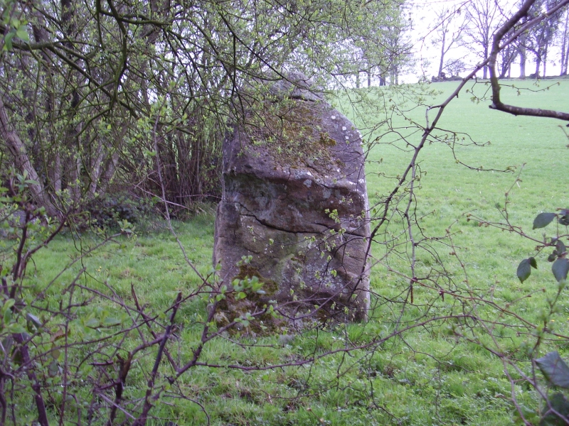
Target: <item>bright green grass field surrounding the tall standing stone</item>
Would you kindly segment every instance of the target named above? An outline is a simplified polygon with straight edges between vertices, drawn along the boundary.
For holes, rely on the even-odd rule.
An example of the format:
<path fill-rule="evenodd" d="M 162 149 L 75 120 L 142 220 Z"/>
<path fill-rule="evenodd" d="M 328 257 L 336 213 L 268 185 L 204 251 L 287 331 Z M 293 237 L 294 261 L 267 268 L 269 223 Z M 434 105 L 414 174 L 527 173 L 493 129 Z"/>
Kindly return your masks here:
<path fill-rule="evenodd" d="M 538 90 L 556 82 L 547 80 L 536 87 L 533 82 L 513 80 L 511 83 L 528 90 L 521 90 L 518 95 L 516 89 L 504 88 L 504 101 L 568 111 L 569 80 L 561 80 L 559 86 L 550 90 Z M 473 84 L 468 84 L 467 89 L 483 97 L 487 87 L 484 84 L 473 87 Z M 422 102 L 437 104 L 454 87 L 450 82 L 432 84 L 430 89 L 440 93 L 435 98 L 425 97 Z M 413 102 L 404 102 L 401 94 L 385 92 L 383 98 L 378 94 L 368 96 L 386 104 L 390 104 L 388 98 L 393 99 L 392 103 L 398 104 L 400 109 L 408 109 L 407 119 L 424 124 L 425 107 L 413 107 Z M 531 236 L 541 238 L 543 230 L 531 230 L 533 217 L 542 211 L 552 212 L 557 207 L 569 206 L 564 178 L 569 166 L 566 147 L 569 140 L 558 121 L 508 116 L 491 111 L 487 107 L 489 101 L 473 102 L 471 97 L 471 93 L 463 92 L 454 99 L 439 126 L 479 143 L 489 141 L 486 146 L 455 146 L 454 155 L 474 168 L 482 165 L 493 170 L 470 170 L 457 163 L 447 143 L 433 141 L 420 154 L 423 175 L 415 193 L 417 214 L 422 217 L 420 223 L 425 235 L 445 236 L 451 226 L 454 246 L 444 241 L 431 241 L 429 246 L 447 266 L 450 278 L 446 282 L 454 285 L 457 297 L 449 294 L 442 300 L 435 290 L 415 286 L 415 302 L 405 305 L 409 285 L 404 278 L 409 273 L 408 247 L 401 249 L 398 256 L 383 258 L 385 246 L 377 244 L 373 255 L 379 262 L 371 273 L 375 309 L 370 322 L 292 337 L 215 339 L 203 351 L 202 361 L 220 367 L 195 367 L 179 381 L 181 392 L 195 402 L 163 398 L 163 403 L 152 412 L 163 422 L 155 420 L 154 424 L 171 420 L 178 425 L 202 425 L 210 417 L 212 425 L 509 425 L 514 415 L 510 402 L 512 391 L 519 403 L 530 410 L 538 408 L 540 401 L 533 388 L 523 382 L 512 385 L 504 374 L 499 356 L 483 347 L 511 354 L 512 359 L 519 358 L 521 361 L 516 365 L 529 373 L 531 364 L 524 361 L 527 355 L 523 352 L 523 343 L 531 344 L 534 338 L 516 334 L 516 320 L 506 317 L 493 305 L 477 305 L 472 299 L 465 303 L 458 295 L 476 294 L 495 302 L 496 306 L 507 305 L 509 310 L 533 324 L 546 318 L 556 332 L 568 335 L 567 290 L 555 313 L 544 313 L 548 310 L 548 297 L 553 297 L 557 290 L 546 256 L 538 256 L 538 270 L 521 284 L 516 278 L 516 267 L 521 259 L 534 255 L 536 244 L 491 226 L 479 226 L 479 220 L 467 220 L 466 214 L 489 222 L 498 221 L 501 214 L 496 205 L 504 207 L 505 193 L 509 192 L 511 221 Z M 346 103 L 341 109 L 353 117 L 369 141 L 376 141 L 366 166 L 373 207 L 393 189 L 393 177 L 408 163 L 410 151 L 404 141 L 385 127 L 366 133 L 366 123 L 377 121 L 369 111 L 364 111 L 366 116 L 360 116 Z M 378 120 L 383 118 L 385 114 Z M 399 135 L 405 136 L 409 143 L 418 142 L 420 133 L 410 121 L 397 114 L 390 114 L 390 119 Z M 437 132 L 438 135 L 443 133 Z M 376 139 L 378 136 L 381 138 Z M 499 171 L 506 168 L 511 171 Z M 516 181 L 518 175 L 521 180 Z M 191 221 L 174 224 L 188 258 L 203 274 L 211 269 L 213 221 L 212 210 L 196 215 Z M 393 229 L 400 226 L 395 217 L 391 226 Z M 76 256 L 75 246 L 88 246 L 93 241 L 90 236 L 78 241 L 70 234 L 55 239 L 36 256 L 33 271 L 28 273 L 28 285 L 41 288 L 66 261 Z M 435 267 L 428 254 L 418 252 L 420 271 Z M 168 307 L 179 291 L 185 292 L 200 284 L 184 261 L 176 239 L 163 225 L 140 231 L 136 238 L 119 237 L 117 242 L 84 258 L 82 267 L 86 268 L 88 275 L 84 279 L 89 283 L 101 283 L 103 288 L 102 283 L 106 282 L 125 299 L 130 297 L 130 288 L 134 285 L 140 301 L 154 312 Z M 77 270 L 70 269 L 57 283 L 70 280 Z M 468 283 L 462 285 L 465 273 Z M 60 297 L 57 283 L 47 295 L 54 303 Z M 532 297 L 524 297 L 529 294 Z M 468 339 L 453 328 L 452 322 L 437 321 L 382 344 L 349 354 L 339 352 L 307 366 L 263 371 L 223 367 L 284 364 L 347 345 L 365 346 L 366 342 L 393 332 L 398 318 L 403 324 L 413 324 L 437 315 L 437 309 L 456 313 L 464 310 L 468 303 L 469 309 L 478 310 L 481 317 L 494 322 L 489 326 L 494 339 L 472 334 L 467 338 L 474 342 L 467 342 Z M 205 312 L 206 302 L 200 298 L 181 308 L 179 336 L 171 349 L 181 359 L 191 356 L 201 332 L 196 324 Z M 557 349 L 563 354 L 567 346 L 563 342 L 562 339 L 562 344 L 544 343 L 540 350 L 544 354 Z M 139 391 L 141 383 L 145 383 L 147 363 L 151 361 L 150 357 L 137 360 L 138 373 L 129 378 L 125 392 Z"/>

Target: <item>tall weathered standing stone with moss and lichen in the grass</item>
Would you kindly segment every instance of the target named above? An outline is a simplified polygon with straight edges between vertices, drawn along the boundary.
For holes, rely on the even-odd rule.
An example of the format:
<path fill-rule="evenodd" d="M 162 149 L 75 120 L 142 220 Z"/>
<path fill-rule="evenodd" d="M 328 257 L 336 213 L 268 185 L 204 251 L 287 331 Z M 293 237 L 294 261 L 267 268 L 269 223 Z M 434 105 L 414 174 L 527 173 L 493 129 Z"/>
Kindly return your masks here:
<path fill-rule="evenodd" d="M 303 84 L 277 84 L 225 141 L 213 263 L 230 285 L 243 275 L 242 256 L 252 256 L 250 274 L 276 283 L 261 302 L 276 300 L 289 317 L 365 320 L 370 230 L 361 138 Z"/>

